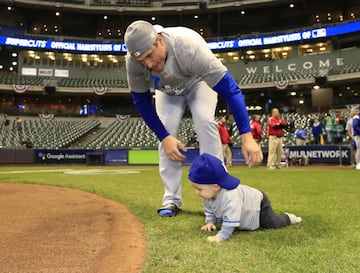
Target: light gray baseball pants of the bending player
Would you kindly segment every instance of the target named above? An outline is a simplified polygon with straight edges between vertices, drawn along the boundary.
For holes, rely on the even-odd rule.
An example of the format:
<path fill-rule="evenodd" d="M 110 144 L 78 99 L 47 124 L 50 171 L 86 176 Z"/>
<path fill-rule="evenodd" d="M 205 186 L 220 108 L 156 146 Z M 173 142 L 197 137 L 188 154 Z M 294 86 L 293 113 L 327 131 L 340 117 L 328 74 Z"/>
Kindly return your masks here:
<path fill-rule="evenodd" d="M 194 84 L 183 96 L 170 96 L 156 91 L 155 105 L 160 120 L 168 132 L 175 137 L 178 136 L 180 122 L 185 107 L 188 106 L 199 140 L 200 154 L 206 152 L 223 160 L 219 132 L 214 118 L 217 93 L 205 82 L 200 81 Z M 163 205 L 175 203 L 180 208 L 182 205 L 182 162 L 169 160 L 162 143 L 159 144 L 159 173 L 165 187 Z"/>

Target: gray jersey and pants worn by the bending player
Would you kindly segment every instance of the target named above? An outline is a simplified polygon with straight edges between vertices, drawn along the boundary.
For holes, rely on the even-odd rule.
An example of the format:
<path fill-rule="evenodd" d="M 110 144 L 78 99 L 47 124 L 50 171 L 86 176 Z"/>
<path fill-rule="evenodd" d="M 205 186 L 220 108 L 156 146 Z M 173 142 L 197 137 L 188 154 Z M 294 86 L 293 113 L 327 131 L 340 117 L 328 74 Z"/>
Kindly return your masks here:
<path fill-rule="evenodd" d="M 167 129 L 178 135 L 186 105 L 190 108 L 200 153 L 207 152 L 223 160 L 221 143 L 214 120 L 217 105 L 215 86 L 227 72 L 226 67 L 208 49 L 203 38 L 183 27 L 156 28 L 168 48 L 164 70 L 154 73 L 127 55 L 129 88 L 145 93 L 155 88 L 156 112 Z M 163 204 L 181 207 L 182 163 L 167 158 L 159 144 L 160 175 L 165 186 Z"/>

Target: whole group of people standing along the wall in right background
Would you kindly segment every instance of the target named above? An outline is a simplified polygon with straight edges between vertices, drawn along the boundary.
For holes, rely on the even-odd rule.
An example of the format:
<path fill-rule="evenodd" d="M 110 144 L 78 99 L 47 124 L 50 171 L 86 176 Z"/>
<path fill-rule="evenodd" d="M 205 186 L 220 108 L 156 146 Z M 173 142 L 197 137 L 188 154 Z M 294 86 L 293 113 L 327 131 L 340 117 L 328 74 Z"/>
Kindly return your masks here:
<path fill-rule="evenodd" d="M 352 158 L 351 162 L 353 166 L 360 169 L 360 158 L 355 160 L 356 153 L 356 133 L 354 136 L 353 117 L 358 116 L 359 110 L 352 108 L 349 112 L 349 118 L 347 122 L 343 117 L 343 114 L 338 112 L 336 115 L 333 113 L 326 113 L 323 117 L 313 115 L 309 128 L 311 128 L 311 134 L 313 140 L 310 140 L 310 132 L 308 133 L 306 128 L 297 121 L 286 121 L 281 117 L 278 108 L 273 108 L 271 116 L 268 118 L 267 123 L 264 124 L 266 128 L 265 137 L 268 139 L 268 159 L 267 167 L 269 169 L 279 169 L 281 161 L 284 159 L 283 147 L 284 147 L 284 133 L 293 134 L 295 136 L 295 145 L 303 146 L 308 143 L 315 145 L 323 144 L 342 144 L 345 137 L 350 138 Z M 250 120 L 251 133 L 256 143 L 261 146 L 263 140 L 263 126 L 261 124 L 261 116 L 258 114 L 252 115 Z M 231 130 L 229 131 L 229 121 L 225 116 L 222 116 L 218 120 L 218 129 L 220 139 L 223 147 L 223 155 L 227 166 L 232 164 L 231 156 Z M 295 128 L 292 128 L 295 127 Z M 229 133 L 230 132 L 230 133 Z M 359 162 L 359 164 L 356 164 Z"/>

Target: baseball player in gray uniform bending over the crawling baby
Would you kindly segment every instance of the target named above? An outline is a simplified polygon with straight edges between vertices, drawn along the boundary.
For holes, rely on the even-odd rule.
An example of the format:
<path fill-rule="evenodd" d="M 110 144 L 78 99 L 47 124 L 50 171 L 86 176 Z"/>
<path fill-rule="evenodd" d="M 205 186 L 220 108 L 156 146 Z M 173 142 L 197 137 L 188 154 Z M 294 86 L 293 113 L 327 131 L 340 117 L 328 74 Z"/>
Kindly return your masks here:
<path fill-rule="evenodd" d="M 163 206 L 158 210 L 160 216 L 174 216 L 181 210 L 181 161 L 185 159 L 181 151 L 186 151 L 186 147 L 177 135 L 186 106 L 192 114 L 200 153 L 222 159 L 214 118 L 219 94 L 235 117 L 245 160 L 250 166 L 262 161 L 262 152 L 250 133 L 241 90 L 198 33 L 185 27 L 163 28 L 139 20 L 128 26 L 124 40 L 134 105 L 160 141 L 159 172 L 165 187 Z M 156 108 L 151 87 L 155 89 Z"/>

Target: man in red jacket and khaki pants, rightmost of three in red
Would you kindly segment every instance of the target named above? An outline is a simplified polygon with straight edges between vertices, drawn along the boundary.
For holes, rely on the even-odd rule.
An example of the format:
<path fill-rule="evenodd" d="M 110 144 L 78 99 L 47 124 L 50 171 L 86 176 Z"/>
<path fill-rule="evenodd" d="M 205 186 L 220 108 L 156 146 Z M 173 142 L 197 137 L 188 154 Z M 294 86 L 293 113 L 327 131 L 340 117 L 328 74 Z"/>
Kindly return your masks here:
<path fill-rule="evenodd" d="M 280 117 L 279 109 L 273 108 L 271 111 L 271 117 L 268 120 L 269 153 L 267 166 L 270 170 L 280 168 L 284 129 L 287 127 L 287 122 Z"/>

